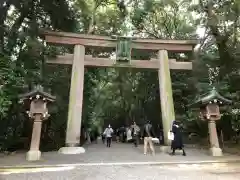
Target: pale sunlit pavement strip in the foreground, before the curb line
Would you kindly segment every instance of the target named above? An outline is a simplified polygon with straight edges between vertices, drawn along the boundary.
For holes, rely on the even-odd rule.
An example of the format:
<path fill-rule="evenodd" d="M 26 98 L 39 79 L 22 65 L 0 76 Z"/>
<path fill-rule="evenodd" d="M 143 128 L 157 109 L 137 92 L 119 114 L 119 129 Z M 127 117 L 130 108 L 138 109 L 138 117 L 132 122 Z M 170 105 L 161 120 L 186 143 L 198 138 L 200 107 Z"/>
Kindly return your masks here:
<path fill-rule="evenodd" d="M 205 165 L 203 165 L 204 167 Z M 0 180 L 239 180 L 239 164 L 234 167 L 196 166 L 90 166 L 55 171 L 0 174 Z"/>

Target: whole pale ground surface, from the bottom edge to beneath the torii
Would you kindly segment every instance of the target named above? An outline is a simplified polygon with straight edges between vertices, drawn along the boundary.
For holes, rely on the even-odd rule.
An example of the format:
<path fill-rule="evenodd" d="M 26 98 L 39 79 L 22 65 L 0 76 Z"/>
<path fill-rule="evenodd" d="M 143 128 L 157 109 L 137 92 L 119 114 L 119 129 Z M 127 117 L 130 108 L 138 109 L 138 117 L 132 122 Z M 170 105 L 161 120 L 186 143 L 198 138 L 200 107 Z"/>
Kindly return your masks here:
<path fill-rule="evenodd" d="M 187 149 L 187 156 L 169 156 L 156 146 L 156 155 L 143 155 L 142 146 L 92 144 L 85 154 L 62 155 L 57 152 L 43 153 L 43 160 L 27 162 L 25 154 L 0 158 L 0 166 L 6 165 L 52 165 L 41 168 L 0 168 L 0 180 L 239 180 L 240 163 L 194 164 L 195 161 L 239 159 L 225 155 L 211 157 L 205 151 Z M 192 162 L 184 164 L 185 161 Z M 159 164 L 147 164 L 160 162 Z M 161 162 L 177 162 L 165 164 Z M 80 163 L 80 164 L 79 164 Z M 131 164 L 133 163 L 133 164 Z M 138 164 L 139 163 L 139 164 Z M 146 164 L 141 164 L 146 163 Z M 61 164 L 69 164 L 60 166 Z M 56 165 L 59 165 L 56 167 Z"/>

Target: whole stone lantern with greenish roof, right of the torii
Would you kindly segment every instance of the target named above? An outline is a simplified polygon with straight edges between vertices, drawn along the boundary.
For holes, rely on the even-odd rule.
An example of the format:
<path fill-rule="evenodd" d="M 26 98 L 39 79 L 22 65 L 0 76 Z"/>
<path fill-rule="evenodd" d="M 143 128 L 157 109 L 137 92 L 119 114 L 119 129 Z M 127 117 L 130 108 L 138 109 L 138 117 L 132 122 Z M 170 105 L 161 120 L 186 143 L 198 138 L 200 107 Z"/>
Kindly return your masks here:
<path fill-rule="evenodd" d="M 191 105 L 200 108 L 200 119 L 208 122 L 210 152 L 213 156 L 222 156 L 216 130 L 216 121 L 221 119 L 220 106 L 231 103 L 231 100 L 224 98 L 213 88 Z"/>

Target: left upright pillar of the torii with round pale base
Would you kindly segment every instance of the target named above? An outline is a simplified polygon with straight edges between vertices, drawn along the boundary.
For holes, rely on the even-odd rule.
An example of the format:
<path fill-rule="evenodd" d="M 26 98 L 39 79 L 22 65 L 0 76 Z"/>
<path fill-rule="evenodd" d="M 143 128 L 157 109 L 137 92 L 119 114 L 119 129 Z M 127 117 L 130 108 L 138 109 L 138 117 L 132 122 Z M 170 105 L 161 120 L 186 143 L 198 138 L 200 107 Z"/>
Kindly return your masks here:
<path fill-rule="evenodd" d="M 84 85 L 84 57 L 85 47 L 82 45 L 75 45 L 68 108 L 66 146 L 59 149 L 59 152 L 62 154 L 80 154 L 85 152 L 85 149 L 80 147 Z"/>

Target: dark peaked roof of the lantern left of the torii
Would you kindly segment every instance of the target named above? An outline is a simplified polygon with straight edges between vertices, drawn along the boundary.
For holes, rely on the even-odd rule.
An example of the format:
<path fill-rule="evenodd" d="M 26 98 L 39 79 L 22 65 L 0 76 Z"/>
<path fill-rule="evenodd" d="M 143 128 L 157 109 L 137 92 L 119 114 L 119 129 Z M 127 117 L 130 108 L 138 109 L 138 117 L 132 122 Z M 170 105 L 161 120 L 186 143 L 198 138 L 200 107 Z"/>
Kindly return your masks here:
<path fill-rule="evenodd" d="M 53 102 L 56 100 L 56 97 L 44 92 L 43 87 L 41 85 L 37 85 L 34 87 L 34 89 L 30 92 L 27 92 L 25 94 L 19 95 L 19 98 L 21 100 L 26 100 L 26 99 L 32 99 L 32 98 L 45 98 L 47 101 Z"/>

